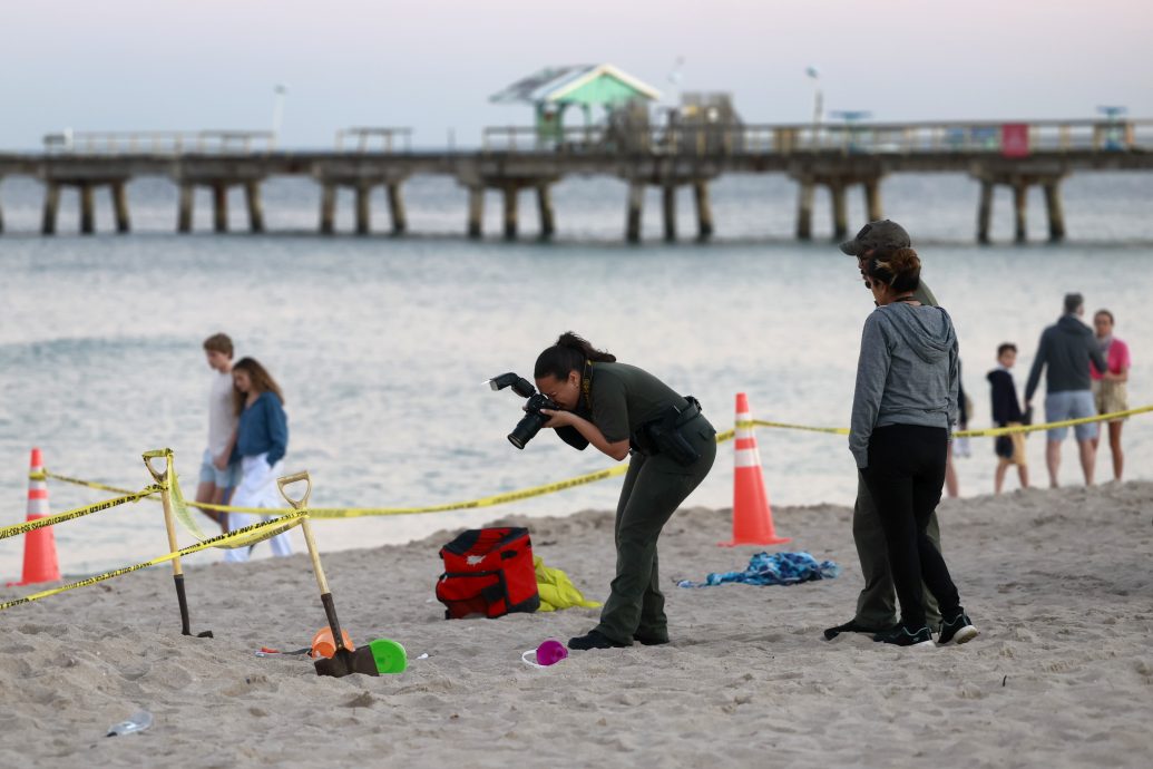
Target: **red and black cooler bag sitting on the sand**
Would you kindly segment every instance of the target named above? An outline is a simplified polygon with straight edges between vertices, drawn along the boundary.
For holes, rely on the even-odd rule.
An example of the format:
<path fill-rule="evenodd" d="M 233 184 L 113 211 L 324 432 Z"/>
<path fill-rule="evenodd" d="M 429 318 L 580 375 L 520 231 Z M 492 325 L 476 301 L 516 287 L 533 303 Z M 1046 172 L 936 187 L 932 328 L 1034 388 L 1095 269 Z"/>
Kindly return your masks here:
<path fill-rule="evenodd" d="M 541 606 L 528 529 L 469 529 L 440 548 L 440 558 L 444 574 L 436 597 L 446 606 L 445 619 L 503 617 Z"/>

